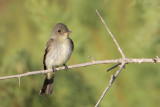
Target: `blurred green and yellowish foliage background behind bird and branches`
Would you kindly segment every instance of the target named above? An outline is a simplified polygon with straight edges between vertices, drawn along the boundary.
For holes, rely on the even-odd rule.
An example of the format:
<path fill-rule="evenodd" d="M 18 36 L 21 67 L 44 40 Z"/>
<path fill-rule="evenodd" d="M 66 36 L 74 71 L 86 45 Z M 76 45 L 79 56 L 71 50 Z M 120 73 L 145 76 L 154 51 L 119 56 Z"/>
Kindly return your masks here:
<path fill-rule="evenodd" d="M 75 49 L 67 65 L 120 58 L 96 14 L 98 9 L 127 57 L 160 57 L 159 0 L 0 0 L 0 76 L 43 69 L 53 26 L 72 31 Z M 0 80 L 0 107 L 93 107 L 109 83 L 114 64 L 58 71 L 52 95 L 39 96 L 44 75 Z M 99 107 L 160 105 L 159 64 L 126 66 Z"/>

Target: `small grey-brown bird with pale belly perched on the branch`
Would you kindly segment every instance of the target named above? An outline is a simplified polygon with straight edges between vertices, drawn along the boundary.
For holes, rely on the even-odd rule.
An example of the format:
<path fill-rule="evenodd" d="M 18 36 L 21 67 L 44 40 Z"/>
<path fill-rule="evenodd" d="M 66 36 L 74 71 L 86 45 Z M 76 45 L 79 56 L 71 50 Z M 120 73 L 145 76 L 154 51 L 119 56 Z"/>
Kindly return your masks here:
<path fill-rule="evenodd" d="M 57 23 L 53 27 L 43 57 L 44 70 L 52 69 L 53 72 L 45 74 L 39 95 L 52 94 L 56 67 L 64 66 L 65 69 L 68 69 L 66 62 L 70 59 L 74 49 L 73 41 L 69 38 L 70 33 L 71 31 L 63 23 Z"/>

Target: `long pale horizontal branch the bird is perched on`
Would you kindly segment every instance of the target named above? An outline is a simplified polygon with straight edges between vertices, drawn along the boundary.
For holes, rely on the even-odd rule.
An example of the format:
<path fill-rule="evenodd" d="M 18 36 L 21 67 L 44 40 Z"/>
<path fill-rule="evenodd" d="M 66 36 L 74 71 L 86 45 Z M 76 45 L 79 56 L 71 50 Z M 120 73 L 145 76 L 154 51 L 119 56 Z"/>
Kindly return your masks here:
<path fill-rule="evenodd" d="M 153 59 L 147 59 L 147 58 L 142 58 L 142 59 L 133 59 L 133 58 L 126 58 L 125 61 L 127 63 L 160 63 L 160 58 L 153 58 Z M 124 59 L 115 59 L 115 60 L 101 60 L 101 61 L 92 61 L 92 62 L 86 62 L 82 64 L 76 64 L 76 65 L 70 65 L 68 66 L 68 69 L 71 68 L 79 68 L 79 67 L 86 67 L 86 66 L 91 66 L 91 65 L 98 65 L 98 64 L 109 64 L 109 63 L 122 63 L 124 62 Z M 57 71 L 59 70 L 64 70 L 65 67 L 59 67 L 56 68 Z M 44 74 L 47 72 L 52 72 L 52 70 L 39 70 L 39 71 L 31 71 L 19 75 L 11 75 L 11 76 L 4 76 L 0 77 L 0 80 L 3 79 L 11 79 L 11 78 L 21 78 L 29 75 L 35 75 L 35 74 Z"/>

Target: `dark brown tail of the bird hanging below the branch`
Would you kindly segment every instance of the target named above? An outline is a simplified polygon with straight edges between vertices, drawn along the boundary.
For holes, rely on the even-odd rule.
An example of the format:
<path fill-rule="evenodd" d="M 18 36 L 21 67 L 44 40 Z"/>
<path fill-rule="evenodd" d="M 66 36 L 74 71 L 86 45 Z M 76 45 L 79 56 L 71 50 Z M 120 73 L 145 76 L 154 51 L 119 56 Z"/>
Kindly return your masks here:
<path fill-rule="evenodd" d="M 48 79 L 47 74 L 46 74 L 46 78 L 44 80 L 43 87 L 39 92 L 39 95 L 43 95 L 45 93 L 52 94 L 53 82 L 54 82 L 54 76 L 52 78 Z"/>

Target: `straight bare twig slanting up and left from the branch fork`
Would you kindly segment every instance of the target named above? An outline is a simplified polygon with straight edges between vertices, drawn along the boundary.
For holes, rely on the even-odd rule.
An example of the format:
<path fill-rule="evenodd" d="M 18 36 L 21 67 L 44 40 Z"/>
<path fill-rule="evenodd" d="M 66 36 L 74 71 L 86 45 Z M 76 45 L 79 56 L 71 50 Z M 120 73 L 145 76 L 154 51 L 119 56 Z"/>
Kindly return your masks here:
<path fill-rule="evenodd" d="M 103 20 L 102 16 L 100 15 L 100 13 L 98 12 L 98 10 L 97 10 L 97 9 L 96 9 L 96 12 L 97 12 L 98 16 L 100 17 L 100 19 L 101 19 L 102 23 L 104 24 L 105 28 L 107 29 L 107 31 L 108 31 L 108 32 L 109 32 L 109 34 L 111 35 L 111 37 L 112 37 L 113 41 L 115 42 L 115 44 L 116 44 L 116 46 L 117 46 L 117 48 L 118 48 L 119 52 L 120 52 L 120 53 L 121 53 L 121 55 L 122 55 L 122 58 L 125 58 L 126 56 L 125 56 L 125 54 L 123 53 L 123 50 L 122 50 L 122 49 L 121 49 L 121 47 L 119 46 L 119 44 L 118 44 L 117 40 L 114 38 L 114 36 L 113 36 L 112 32 L 110 31 L 110 29 L 109 29 L 109 28 L 108 28 L 108 26 L 106 25 L 105 21 Z"/>

